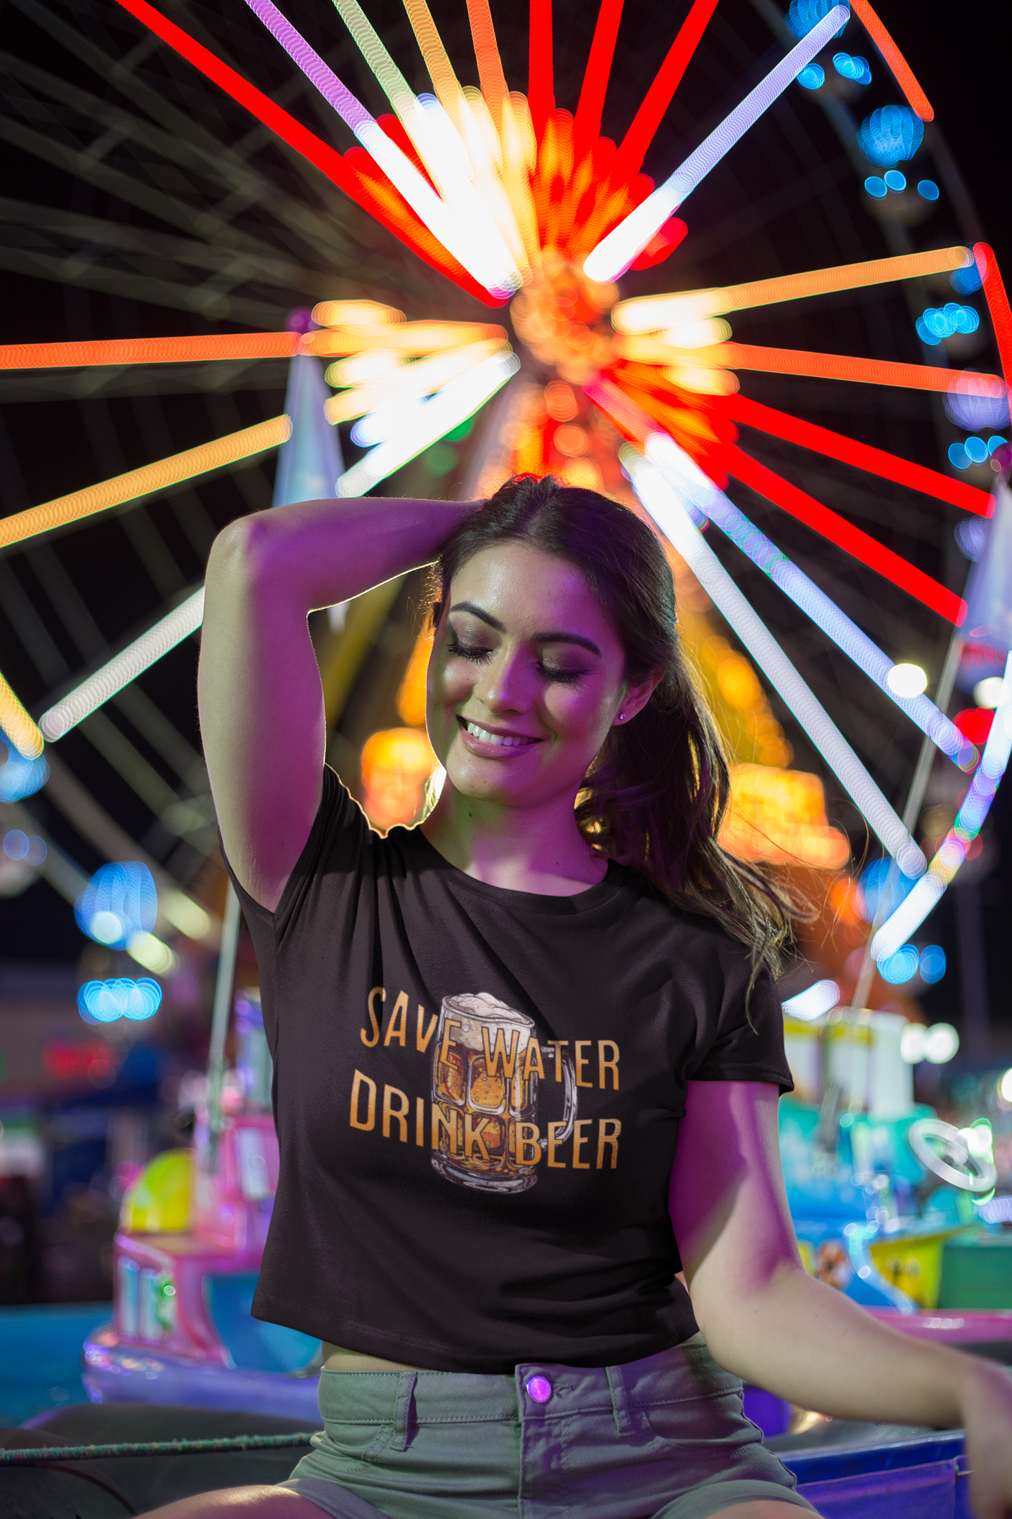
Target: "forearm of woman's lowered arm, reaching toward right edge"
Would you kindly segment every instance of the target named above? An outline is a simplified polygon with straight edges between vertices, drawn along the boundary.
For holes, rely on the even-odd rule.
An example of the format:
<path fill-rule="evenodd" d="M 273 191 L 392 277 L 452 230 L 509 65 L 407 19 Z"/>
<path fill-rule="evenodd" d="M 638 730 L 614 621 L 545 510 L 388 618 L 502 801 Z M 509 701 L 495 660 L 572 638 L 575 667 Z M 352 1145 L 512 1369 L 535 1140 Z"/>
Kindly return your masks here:
<path fill-rule="evenodd" d="M 886 1328 L 801 1267 L 778 1265 L 734 1302 L 709 1302 L 699 1282 L 693 1308 L 721 1366 L 836 1419 L 953 1428 L 988 1378 L 1012 1404 L 997 1367 Z"/>

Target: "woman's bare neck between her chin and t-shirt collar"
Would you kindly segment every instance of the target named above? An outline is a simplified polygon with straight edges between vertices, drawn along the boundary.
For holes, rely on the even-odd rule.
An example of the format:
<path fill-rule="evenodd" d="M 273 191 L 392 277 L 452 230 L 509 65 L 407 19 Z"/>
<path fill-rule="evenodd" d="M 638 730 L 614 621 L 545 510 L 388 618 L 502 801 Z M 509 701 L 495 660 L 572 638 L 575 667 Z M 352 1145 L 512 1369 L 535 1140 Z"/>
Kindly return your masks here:
<path fill-rule="evenodd" d="M 451 781 L 422 832 L 458 870 L 511 892 L 574 896 L 604 880 L 607 861 L 577 828 L 575 797 L 502 807 L 454 790 Z"/>

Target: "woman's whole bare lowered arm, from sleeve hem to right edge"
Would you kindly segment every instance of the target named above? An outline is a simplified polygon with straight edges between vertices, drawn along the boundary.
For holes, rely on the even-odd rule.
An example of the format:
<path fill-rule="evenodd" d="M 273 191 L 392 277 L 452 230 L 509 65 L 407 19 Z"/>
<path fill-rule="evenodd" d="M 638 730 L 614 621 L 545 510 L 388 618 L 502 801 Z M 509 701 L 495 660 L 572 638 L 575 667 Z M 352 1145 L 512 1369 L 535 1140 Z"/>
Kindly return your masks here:
<path fill-rule="evenodd" d="M 965 1428 L 977 1519 L 1012 1514 L 1012 1378 L 892 1329 L 806 1274 L 774 1086 L 689 1083 L 669 1208 L 692 1308 L 721 1366 L 838 1419 Z"/>

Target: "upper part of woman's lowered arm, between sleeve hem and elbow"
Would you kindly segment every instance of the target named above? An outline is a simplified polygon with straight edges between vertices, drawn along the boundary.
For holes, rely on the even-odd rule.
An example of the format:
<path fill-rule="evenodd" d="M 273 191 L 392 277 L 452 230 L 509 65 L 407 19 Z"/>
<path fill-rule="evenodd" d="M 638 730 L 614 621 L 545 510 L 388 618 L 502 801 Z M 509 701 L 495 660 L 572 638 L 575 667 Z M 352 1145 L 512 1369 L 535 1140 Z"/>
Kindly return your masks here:
<path fill-rule="evenodd" d="M 746 1296 L 778 1265 L 798 1265 L 778 1095 L 766 1082 L 687 1083 L 669 1212 L 701 1326 L 728 1293 Z"/>

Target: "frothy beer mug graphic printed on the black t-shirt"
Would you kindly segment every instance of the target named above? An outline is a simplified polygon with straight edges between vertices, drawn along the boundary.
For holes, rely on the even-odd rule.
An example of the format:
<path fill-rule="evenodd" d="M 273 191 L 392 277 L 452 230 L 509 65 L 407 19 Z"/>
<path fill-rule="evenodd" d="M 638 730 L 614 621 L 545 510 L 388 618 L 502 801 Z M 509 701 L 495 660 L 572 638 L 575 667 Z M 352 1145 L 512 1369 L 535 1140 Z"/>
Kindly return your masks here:
<path fill-rule="evenodd" d="M 539 1107 L 549 1100 L 542 1092 L 539 1101 L 536 1054 L 546 1071 L 555 1056 L 533 1051 L 533 1042 L 534 1019 L 489 992 L 443 998 L 432 1053 L 432 1165 L 448 1182 L 487 1192 L 536 1185 L 548 1141 Z M 551 1124 L 555 1145 L 572 1136 L 577 1116 L 577 1083 L 564 1051 L 561 1071 L 561 1115 Z"/>

